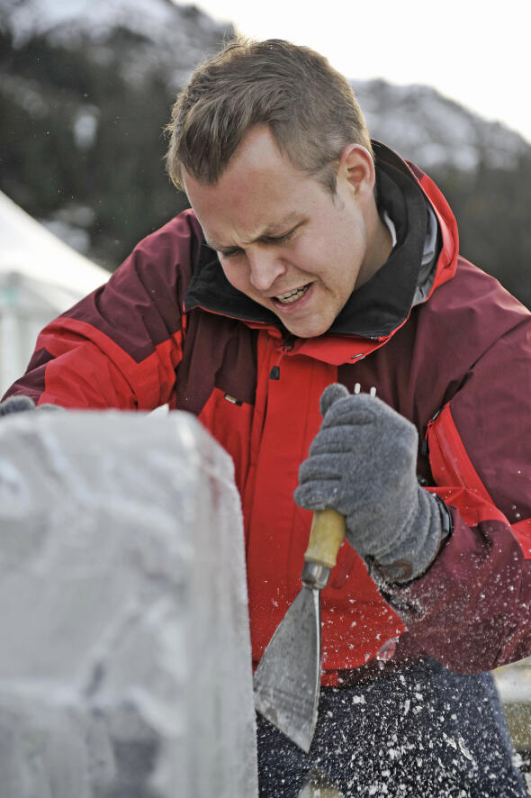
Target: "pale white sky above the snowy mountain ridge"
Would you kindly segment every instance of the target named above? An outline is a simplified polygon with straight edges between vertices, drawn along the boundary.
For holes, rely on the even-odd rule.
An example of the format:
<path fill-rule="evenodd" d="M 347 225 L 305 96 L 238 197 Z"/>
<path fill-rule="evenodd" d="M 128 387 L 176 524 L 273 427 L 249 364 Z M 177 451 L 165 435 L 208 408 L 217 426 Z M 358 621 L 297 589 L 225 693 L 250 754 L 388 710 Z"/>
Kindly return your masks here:
<path fill-rule="evenodd" d="M 180 0 L 182 2 L 182 0 Z M 197 0 L 257 39 L 288 39 L 349 78 L 424 83 L 531 142 L 529 0 Z"/>

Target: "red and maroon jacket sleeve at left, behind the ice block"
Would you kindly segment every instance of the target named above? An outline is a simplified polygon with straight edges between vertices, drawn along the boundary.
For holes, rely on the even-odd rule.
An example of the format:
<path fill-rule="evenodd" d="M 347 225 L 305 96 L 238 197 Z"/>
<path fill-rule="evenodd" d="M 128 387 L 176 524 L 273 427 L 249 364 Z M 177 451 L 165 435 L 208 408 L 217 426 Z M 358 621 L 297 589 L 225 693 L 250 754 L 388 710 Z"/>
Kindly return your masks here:
<path fill-rule="evenodd" d="M 200 234 L 185 211 L 140 241 L 107 284 L 40 332 L 26 373 L 5 396 L 69 408 L 171 405 Z"/>

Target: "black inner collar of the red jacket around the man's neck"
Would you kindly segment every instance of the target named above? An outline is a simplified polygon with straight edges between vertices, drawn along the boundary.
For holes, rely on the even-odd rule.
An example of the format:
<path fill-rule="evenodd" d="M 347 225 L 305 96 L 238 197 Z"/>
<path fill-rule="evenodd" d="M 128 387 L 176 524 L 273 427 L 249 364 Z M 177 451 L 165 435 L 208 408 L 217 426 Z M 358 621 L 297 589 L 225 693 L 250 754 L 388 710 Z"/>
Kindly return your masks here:
<path fill-rule="evenodd" d="M 425 298 L 435 277 L 439 236 L 428 275 L 426 263 L 423 264 L 430 215 L 428 199 L 405 161 L 384 144 L 374 141 L 373 145 L 377 204 L 381 213 L 385 210 L 392 218 L 397 243 L 383 267 L 350 295 L 327 335 L 385 338 L 408 318 L 419 299 L 419 282 L 428 282 L 428 290 L 424 286 L 420 292 Z M 254 327 L 271 328 L 279 337 L 285 333 L 275 313 L 230 285 L 216 252 L 204 240 L 184 297 L 185 312 L 197 307 Z"/>

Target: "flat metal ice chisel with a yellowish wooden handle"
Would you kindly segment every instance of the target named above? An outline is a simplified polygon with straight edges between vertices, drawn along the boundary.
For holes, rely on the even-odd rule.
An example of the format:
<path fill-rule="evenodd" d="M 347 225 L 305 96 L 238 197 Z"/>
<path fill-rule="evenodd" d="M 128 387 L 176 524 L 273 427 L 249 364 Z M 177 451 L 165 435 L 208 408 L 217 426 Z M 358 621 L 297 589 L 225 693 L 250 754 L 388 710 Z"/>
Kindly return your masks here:
<path fill-rule="evenodd" d="M 335 510 L 314 513 L 302 590 L 279 623 L 254 678 L 257 711 L 307 753 L 320 694 L 320 591 L 344 537 L 342 515 Z"/>

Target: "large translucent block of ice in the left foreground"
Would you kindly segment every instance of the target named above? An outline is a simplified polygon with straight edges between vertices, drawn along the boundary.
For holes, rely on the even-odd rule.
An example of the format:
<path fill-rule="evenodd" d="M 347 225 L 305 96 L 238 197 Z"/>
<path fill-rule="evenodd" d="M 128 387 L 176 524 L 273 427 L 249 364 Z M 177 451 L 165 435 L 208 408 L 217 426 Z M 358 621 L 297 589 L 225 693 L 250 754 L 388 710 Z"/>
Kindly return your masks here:
<path fill-rule="evenodd" d="M 257 794 L 229 456 L 191 415 L 0 424 L 6 798 Z"/>

